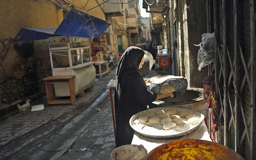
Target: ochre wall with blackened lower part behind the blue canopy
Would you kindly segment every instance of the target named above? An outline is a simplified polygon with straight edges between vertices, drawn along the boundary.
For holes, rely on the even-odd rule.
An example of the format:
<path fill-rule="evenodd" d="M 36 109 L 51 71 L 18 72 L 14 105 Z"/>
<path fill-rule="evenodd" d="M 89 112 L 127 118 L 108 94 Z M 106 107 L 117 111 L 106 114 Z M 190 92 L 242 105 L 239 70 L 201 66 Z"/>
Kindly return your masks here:
<path fill-rule="evenodd" d="M 85 4 L 84 0 L 69 1 L 81 8 Z M 95 6 L 98 6 L 96 1 L 89 0 L 86 7 L 79 10 L 87 11 Z M 47 41 L 15 43 L 13 39 L 20 28 L 56 28 L 64 16 L 63 9 L 46 0 L 1 0 L 0 8 L 1 114 L 37 93 L 44 93 L 41 79 L 52 75 Z M 99 7 L 88 13 L 105 20 Z"/>

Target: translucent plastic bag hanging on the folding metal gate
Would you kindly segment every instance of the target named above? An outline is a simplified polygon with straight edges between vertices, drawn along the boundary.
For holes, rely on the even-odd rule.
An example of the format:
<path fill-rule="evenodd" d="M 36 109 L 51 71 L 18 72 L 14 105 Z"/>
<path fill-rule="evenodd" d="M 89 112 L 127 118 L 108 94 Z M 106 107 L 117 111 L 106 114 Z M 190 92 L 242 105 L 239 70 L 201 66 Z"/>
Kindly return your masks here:
<path fill-rule="evenodd" d="M 194 44 L 195 45 L 195 44 Z M 198 45 L 200 49 L 197 55 L 198 70 L 210 64 L 214 60 L 214 33 L 203 33 L 202 42 Z"/>

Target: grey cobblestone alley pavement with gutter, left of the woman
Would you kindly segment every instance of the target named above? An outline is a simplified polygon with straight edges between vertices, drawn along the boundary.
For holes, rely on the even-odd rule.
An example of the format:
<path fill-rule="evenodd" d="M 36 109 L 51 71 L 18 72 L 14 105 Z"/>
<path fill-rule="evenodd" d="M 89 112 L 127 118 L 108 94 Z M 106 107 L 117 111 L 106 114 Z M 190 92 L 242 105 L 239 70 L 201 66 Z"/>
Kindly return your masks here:
<path fill-rule="evenodd" d="M 157 73 L 152 70 L 146 77 Z M 16 113 L 0 121 L 0 159 L 5 160 L 107 160 L 115 149 L 109 91 L 115 70 L 77 97 L 74 105 L 47 106 L 44 110 Z M 114 93 L 112 94 L 114 100 Z M 100 111 L 95 110 L 101 108 Z M 86 148 L 86 150 L 85 150 Z M 84 150 L 83 150 L 84 149 Z"/>

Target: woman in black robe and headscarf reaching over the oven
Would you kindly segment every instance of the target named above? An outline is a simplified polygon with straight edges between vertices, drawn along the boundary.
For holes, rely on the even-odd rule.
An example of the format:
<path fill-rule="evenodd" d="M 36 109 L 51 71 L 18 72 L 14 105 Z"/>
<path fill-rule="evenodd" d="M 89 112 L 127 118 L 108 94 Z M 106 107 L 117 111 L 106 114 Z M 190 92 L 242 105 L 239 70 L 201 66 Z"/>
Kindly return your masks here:
<path fill-rule="evenodd" d="M 128 47 L 118 64 L 115 88 L 116 147 L 131 144 L 134 130 L 129 120 L 134 114 L 146 110 L 154 100 L 169 96 L 147 91 L 138 71 L 142 67 L 143 56 L 144 51 L 140 48 Z"/>

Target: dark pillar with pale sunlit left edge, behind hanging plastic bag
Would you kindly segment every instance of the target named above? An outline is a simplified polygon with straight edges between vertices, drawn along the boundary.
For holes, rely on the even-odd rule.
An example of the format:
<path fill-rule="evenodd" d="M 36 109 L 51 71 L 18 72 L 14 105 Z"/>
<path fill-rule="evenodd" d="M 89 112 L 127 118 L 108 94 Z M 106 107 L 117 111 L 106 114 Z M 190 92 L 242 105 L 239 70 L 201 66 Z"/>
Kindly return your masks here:
<path fill-rule="evenodd" d="M 184 31 L 184 53 L 185 53 L 185 74 L 189 87 L 203 87 L 203 78 L 208 75 L 208 67 L 198 70 L 197 55 L 199 44 L 202 41 L 201 35 L 207 32 L 206 10 L 204 0 L 183 1 L 183 31 Z M 189 4 L 191 4 L 189 6 Z M 189 9 L 188 9 L 189 6 Z M 187 9 L 186 9 L 187 8 Z"/>

